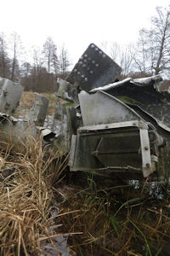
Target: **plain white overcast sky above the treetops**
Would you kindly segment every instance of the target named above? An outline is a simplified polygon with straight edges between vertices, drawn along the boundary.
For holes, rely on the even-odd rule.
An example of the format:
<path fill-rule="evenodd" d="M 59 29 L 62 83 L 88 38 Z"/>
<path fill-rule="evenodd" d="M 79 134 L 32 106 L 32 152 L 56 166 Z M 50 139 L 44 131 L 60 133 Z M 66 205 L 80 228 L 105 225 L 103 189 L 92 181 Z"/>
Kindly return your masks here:
<path fill-rule="evenodd" d="M 169 0 L 0 0 L 0 32 L 20 34 L 26 47 L 52 37 L 75 64 L 88 44 L 129 44 Z"/>

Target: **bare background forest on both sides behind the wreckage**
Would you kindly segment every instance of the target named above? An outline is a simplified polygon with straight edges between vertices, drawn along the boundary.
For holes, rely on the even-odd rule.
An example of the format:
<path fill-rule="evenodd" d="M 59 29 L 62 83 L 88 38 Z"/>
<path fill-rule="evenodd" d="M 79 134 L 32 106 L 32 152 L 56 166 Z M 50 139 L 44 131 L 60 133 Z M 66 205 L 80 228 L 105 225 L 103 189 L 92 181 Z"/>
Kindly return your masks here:
<path fill-rule="evenodd" d="M 150 27 L 139 30 L 136 44 L 105 41 L 99 47 L 122 67 L 121 79 L 154 74 L 170 79 L 170 6 L 156 8 Z M 65 78 L 71 64 L 75 63 L 71 63 L 65 45 L 58 49 L 53 38 L 48 37 L 42 49 L 32 47 L 28 57 L 17 32 L 9 38 L 4 32 L 0 34 L 0 77 L 20 82 L 25 90 L 54 91 L 57 78 Z"/>

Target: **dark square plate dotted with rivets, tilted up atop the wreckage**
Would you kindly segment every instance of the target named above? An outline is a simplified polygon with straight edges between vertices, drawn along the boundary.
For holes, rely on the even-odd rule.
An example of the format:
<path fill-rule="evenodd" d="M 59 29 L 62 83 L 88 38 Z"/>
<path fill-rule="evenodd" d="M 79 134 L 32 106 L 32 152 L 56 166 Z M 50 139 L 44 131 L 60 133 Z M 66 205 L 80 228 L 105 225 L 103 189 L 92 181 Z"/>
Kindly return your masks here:
<path fill-rule="evenodd" d="M 88 91 L 113 83 L 121 70 L 98 46 L 90 44 L 66 80 Z"/>

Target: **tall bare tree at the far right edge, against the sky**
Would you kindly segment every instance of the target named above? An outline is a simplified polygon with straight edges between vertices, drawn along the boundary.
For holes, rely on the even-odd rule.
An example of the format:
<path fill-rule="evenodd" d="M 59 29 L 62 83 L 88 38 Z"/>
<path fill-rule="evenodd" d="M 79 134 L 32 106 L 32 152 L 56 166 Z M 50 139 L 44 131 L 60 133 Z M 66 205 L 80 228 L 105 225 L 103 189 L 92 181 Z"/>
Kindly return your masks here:
<path fill-rule="evenodd" d="M 158 74 L 170 69 L 170 6 L 156 8 L 150 29 L 139 33 L 138 49 L 142 55 L 135 62 L 140 71 Z"/>

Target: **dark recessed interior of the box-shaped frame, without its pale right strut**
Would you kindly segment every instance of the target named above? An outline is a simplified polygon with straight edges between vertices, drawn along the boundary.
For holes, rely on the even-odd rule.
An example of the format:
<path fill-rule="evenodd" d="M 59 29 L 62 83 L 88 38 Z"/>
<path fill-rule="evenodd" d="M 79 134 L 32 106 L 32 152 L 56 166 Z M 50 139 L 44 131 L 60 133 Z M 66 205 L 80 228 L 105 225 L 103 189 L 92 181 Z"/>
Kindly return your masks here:
<path fill-rule="evenodd" d="M 134 120 L 124 122 L 124 126 L 122 123 L 120 127 L 111 124 L 106 129 L 103 125 L 95 125 L 92 130 L 88 127 L 87 130 L 85 127 L 78 129 L 71 143 L 71 171 L 96 171 L 106 167 L 120 172 L 121 167 L 122 170 L 129 168 L 142 175 L 139 127 L 143 126 Z"/>

